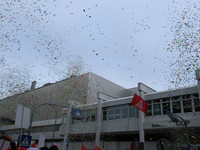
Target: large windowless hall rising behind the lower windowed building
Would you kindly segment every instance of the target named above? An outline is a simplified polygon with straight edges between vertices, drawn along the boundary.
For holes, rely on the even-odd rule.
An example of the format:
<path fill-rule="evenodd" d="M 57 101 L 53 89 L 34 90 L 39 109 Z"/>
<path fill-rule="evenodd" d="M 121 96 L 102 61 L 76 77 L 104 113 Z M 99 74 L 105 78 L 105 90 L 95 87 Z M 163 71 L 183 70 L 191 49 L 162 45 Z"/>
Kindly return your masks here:
<path fill-rule="evenodd" d="M 68 79 L 47 83 L 44 86 L 35 89 L 35 82 L 29 91 L 7 97 L 0 101 L 1 119 L 0 132 L 11 134 L 15 140 L 18 139 L 20 129 L 14 127 L 17 104 L 23 105 L 34 112 L 31 135 L 33 140 L 38 140 L 39 133 L 48 133 L 46 135 L 47 143 L 51 139 L 55 130 L 56 139 L 62 139 L 58 132 L 62 123 L 62 109 L 69 104 L 73 106 L 80 104 L 90 104 L 98 101 L 97 93 L 102 92 L 110 95 L 112 98 L 121 98 L 130 96 L 130 92 L 135 89 L 125 89 L 115 83 L 110 82 L 91 72 L 80 75 L 71 76 Z M 48 104 L 47 104 L 48 103 Z M 56 126 L 55 109 L 57 111 Z M 55 128 L 54 128 L 55 127 Z M 23 129 L 24 133 L 28 130 Z M 38 133 L 38 134 L 39 134 Z"/>

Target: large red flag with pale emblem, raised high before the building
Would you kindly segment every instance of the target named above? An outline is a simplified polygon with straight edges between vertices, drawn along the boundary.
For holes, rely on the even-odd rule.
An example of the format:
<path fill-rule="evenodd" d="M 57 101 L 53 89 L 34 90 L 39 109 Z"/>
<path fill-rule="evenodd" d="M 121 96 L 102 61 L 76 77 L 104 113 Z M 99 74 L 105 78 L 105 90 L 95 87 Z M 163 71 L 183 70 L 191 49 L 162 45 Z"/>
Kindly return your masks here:
<path fill-rule="evenodd" d="M 142 97 L 138 96 L 137 94 L 134 95 L 133 100 L 131 102 L 131 105 L 135 106 L 142 112 L 146 113 L 147 108 L 149 107 L 149 104 L 146 103 Z"/>

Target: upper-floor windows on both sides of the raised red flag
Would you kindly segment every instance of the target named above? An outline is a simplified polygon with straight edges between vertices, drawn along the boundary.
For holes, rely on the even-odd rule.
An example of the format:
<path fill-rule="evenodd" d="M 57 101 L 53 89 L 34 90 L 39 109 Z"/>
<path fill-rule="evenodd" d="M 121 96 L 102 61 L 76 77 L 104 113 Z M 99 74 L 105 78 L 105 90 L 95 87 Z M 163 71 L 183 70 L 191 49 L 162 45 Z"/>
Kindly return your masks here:
<path fill-rule="evenodd" d="M 199 95 L 188 94 L 183 96 L 146 101 L 149 104 L 146 116 L 164 115 L 167 111 L 173 113 L 200 112 Z M 103 108 L 103 120 L 135 118 L 139 111 L 132 105 L 121 105 Z"/>

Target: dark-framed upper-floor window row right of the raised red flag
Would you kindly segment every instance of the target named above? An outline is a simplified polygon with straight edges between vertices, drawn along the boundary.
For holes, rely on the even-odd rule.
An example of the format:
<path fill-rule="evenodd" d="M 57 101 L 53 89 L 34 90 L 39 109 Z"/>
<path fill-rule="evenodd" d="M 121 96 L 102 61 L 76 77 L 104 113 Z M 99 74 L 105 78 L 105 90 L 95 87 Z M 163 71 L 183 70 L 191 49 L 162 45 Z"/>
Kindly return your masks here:
<path fill-rule="evenodd" d="M 167 111 L 176 113 L 199 112 L 199 95 L 188 94 L 146 101 L 149 104 L 146 116 L 164 115 Z"/>

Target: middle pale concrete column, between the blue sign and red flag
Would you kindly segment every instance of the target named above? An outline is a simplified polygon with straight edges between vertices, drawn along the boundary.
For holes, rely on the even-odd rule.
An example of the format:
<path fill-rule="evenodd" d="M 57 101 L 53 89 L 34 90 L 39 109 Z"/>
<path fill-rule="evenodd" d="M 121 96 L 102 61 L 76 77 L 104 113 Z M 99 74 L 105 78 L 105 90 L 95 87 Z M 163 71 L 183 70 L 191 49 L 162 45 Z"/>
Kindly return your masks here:
<path fill-rule="evenodd" d="M 96 121 L 96 141 L 95 146 L 100 147 L 100 134 L 101 134 L 101 108 L 102 108 L 102 100 L 98 100 L 97 106 L 97 121 Z"/>

